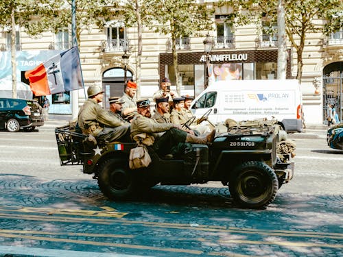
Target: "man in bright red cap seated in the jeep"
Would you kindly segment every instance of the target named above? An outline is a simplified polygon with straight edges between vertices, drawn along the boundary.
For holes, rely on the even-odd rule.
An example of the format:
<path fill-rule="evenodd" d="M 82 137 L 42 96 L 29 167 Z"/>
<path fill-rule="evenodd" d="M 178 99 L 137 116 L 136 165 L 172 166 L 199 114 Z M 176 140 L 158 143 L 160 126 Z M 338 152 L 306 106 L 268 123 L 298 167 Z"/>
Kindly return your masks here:
<path fill-rule="evenodd" d="M 134 114 L 137 114 L 137 104 L 134 100 L 134 95 L 136 95 L 136 92 L 137 84 L 132 81 L 128 81 L 125 86 L 123 96 L 121 97 L 121 99 L 123 100 L 121 116 L 124 119 L 130 120 L 132 119 Z"/>

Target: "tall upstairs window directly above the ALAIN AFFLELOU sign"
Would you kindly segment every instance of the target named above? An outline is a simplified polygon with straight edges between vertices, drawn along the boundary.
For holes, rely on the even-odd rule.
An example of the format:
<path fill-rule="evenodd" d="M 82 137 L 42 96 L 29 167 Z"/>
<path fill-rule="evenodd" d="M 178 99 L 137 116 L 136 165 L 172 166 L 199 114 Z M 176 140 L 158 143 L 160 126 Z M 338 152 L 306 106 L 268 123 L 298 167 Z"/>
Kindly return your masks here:
<path fill-rule="evenodd" d="M 234 34 L 232 27 L 225 22 L 228 15 L 216 15 L 215 21 L 217 24 L 217 39 L 216 47 L 233 48 L 234 47 Z"/>

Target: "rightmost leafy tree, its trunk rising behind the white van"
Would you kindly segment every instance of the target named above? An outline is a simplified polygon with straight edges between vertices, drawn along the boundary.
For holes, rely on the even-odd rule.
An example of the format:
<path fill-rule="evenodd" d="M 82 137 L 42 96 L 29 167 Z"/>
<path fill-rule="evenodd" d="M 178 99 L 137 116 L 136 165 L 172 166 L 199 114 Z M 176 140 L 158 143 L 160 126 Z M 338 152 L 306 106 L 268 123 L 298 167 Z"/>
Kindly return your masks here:
<path fill-rule="evenodd" d="M 296 49 L 296 78 L 300 82 L 303 75 L 303 50 L 307 34 L 311 32 L 329 34 L 342 26 L 342 0 L 285 0 L 284 3 L 285 32 L 292 47 Z M 237 25 L 246 25 L 254 21 L 261 29 L 262 20 L 269 21 L 270 25 L 277 21 L 278 0 L 224 0 L 221 4 L 233 7 L 230 21 Z M 318 25 L 316 23 L 318 19 L 324 19 L 327 23 Z M 273 33 L 272 26 L 270 32 Z"/>

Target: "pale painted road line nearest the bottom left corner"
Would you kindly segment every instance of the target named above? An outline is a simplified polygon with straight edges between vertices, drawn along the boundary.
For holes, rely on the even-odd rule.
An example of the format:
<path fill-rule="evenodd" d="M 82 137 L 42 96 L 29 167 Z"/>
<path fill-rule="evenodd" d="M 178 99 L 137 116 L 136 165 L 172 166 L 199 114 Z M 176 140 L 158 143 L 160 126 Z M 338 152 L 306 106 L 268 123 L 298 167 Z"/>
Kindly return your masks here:
<path fill-rule="evenodd" d="M 5 238 L 17 238 L 16 234 L 6 234 L 0 233 L 0 236 Z M 67 239 L 67 238 L 50 238 L 44 236 L 25 236 L 21 235 L 21 238 L 30 239 L 30 240 L 39 240 L 39 241 L 50 241 L 50 242 L 61 242 L 61 243 L 78 243 L 82 245 L 99 245 L 99 246 L 108 246 L 108 247 L 122 247 L 122 248 L 130 248 L 130 249 L 147 249 L 147 250 L 154 250 L 154 251 L 161 251 L 161 252 L 179 252 L 179 253 L 186 253 L 186 254 L 204 254 L 202 251 L 198 250 L 191 250 L 191 249 L 179 249 L 179 248 L 164 248 L 164 247 L 154 247 L 154 246 L 147 246 L 147 245 L 130 245 L 125 243 L 106 243 L 106 242 L 97 242 L 97 241 L 82 241 L 82 240 L 75 240 L 75 239 Z"/>

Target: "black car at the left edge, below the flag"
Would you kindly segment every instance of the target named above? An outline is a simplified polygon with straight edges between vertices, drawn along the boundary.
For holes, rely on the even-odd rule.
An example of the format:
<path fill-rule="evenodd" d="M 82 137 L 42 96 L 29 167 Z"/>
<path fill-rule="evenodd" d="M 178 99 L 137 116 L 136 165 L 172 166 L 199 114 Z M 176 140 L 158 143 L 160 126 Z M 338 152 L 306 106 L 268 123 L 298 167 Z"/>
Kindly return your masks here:
<path fill-rule="evenodd" d="M 44 125 L 43 108 L 29 99 L 0 98 L 0 129 L 18 132 Z"/>

